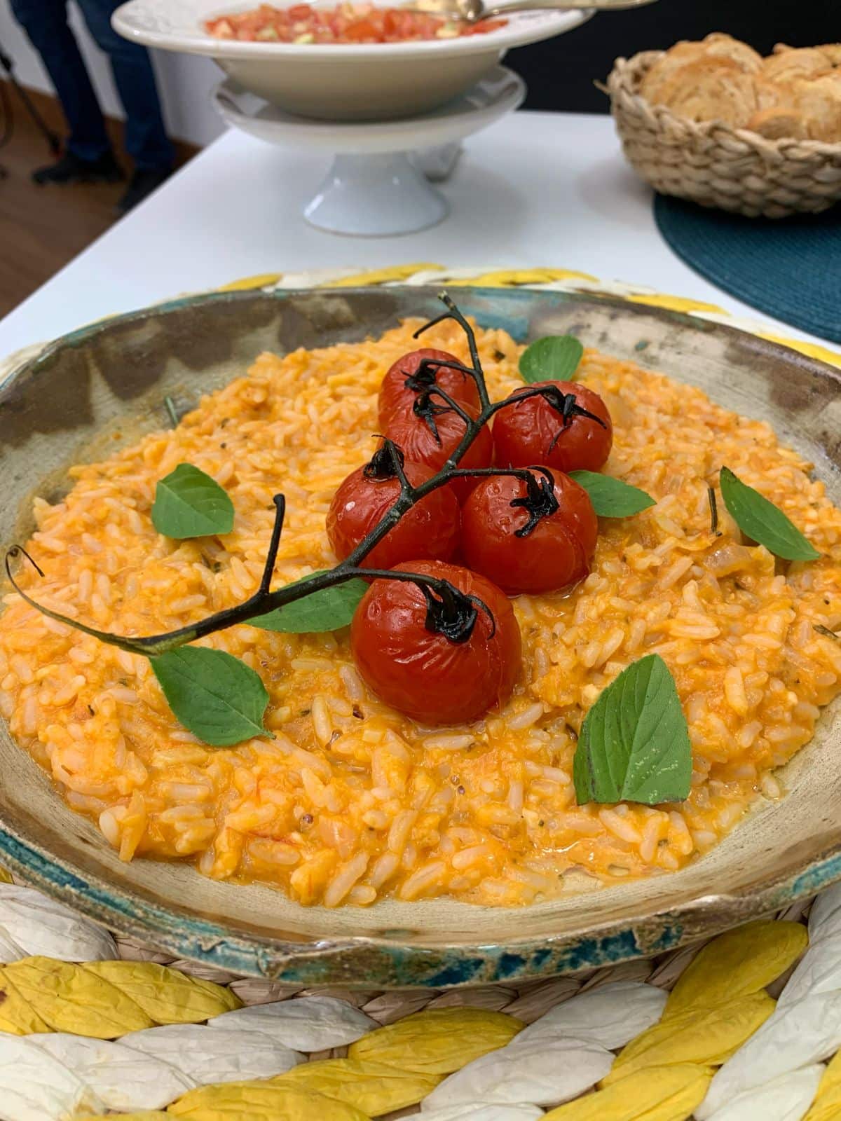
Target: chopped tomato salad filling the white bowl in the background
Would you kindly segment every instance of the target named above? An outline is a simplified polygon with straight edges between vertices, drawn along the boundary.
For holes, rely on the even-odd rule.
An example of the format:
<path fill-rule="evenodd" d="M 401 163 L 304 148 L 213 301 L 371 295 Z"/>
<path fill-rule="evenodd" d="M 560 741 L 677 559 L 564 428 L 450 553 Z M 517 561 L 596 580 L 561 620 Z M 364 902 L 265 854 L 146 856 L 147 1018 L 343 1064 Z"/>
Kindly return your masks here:
<path fill-rule="evenodd" d="M 505 19 L 449 22 L 425 12 L 376 8 L 370 3 L 340 3 L 334 8 L 313 8 L 308 3 L 275 8 L 264 3 L 251 11 L 209 19 L 205 28 L 218 39 L 241 43 L 352 44 L 456 39 L 495 31 L 506 22 Z"/>

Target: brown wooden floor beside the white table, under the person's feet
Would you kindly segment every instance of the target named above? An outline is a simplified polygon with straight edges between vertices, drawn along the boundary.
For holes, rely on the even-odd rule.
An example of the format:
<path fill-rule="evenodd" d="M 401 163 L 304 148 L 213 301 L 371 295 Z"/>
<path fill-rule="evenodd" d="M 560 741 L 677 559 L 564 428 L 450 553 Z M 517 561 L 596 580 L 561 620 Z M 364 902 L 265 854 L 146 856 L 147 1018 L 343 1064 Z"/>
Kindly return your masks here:
<path fill-rule="evenodd" d="M 13 111 L 13 133 L 0 148 L 0 316 L 6 315 L 54 272 L 118 220 L 114 210 L 124 184 L 92 183 L 39 187 L 30 179 L 36 167 L 54 161 L 46 141 L 29 119 L 13 90 L 7 86 Z M 61 111 L 53 99 L 36 95 L 38 109 L 50 127 L 63 135 Z M 1 122 L 0 122 L 1 123 Z M 110 122 L 117 158 L 121 127 Z M 183 146 L 182 146 L 183 147 Z M 187 158 L 190 149 L 183 149 Z"/>

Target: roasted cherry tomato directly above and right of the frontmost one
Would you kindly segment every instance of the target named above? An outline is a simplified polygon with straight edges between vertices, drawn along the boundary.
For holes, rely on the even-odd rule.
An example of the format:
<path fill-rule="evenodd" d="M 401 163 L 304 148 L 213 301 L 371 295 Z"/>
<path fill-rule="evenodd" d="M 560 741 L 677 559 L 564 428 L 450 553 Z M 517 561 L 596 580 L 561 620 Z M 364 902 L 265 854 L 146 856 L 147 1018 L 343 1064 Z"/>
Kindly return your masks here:
<path fill-rule="evenodd" d="M 583 580 L 599 519 L 569 475 L 533 467 L 530 481 L 482 479 L 462 508 L 462 555 L 508 595 L 556 592 Z"/>

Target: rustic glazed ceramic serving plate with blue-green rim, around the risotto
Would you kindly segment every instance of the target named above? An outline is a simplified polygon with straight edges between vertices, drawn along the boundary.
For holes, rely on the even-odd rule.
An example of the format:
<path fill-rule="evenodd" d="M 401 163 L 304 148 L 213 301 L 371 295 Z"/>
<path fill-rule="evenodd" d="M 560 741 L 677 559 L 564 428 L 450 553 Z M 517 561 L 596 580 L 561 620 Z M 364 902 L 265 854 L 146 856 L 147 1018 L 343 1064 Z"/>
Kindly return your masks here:
<path fill-rule="evenodd" d="M 841 377 L 794 351 L 673 312 L 560 293 L 459 289 L 482 326 L 519 340 L 573 333 L 586 345 L 702 387 L 768 420 L 841 500 Z M 228 293 L 107 319 L 59 339 L 0 386 L 0 540 L 31 529 L 34 494 L 65 469 L 135 442 L 242 372 L 261 350 L 379 335 L 437 313 L 431 288 Z M 782 773 L 709 855 L 672 874 L 576 890 L 525 909 L 447 899 L 303 908 L 279 891 L 201 877 L 186 864 L 120 863 L 0 726 L 0 861 L 43 891 L 175 957 L 311 984 L 452 985 L 540 976 L 668 949 L 841 879 L 841 719 Z"/>

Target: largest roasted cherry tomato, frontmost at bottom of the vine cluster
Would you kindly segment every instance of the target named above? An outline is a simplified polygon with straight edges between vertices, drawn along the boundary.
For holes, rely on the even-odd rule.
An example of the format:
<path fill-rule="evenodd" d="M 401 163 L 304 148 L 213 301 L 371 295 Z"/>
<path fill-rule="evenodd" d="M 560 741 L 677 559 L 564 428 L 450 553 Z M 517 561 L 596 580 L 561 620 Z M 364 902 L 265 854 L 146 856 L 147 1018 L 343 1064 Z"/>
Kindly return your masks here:
<path fill-rule="evenodd" d="M 445 580 L 462 594 L 373 581 L 351 624 L 353 657 L 370 688 L 424 724 L 469 723 L 505 703 L 521 657 L 505 594 L 484 576 L 437 560 L 409 560 L 395 572 Z"/>

